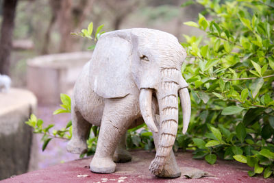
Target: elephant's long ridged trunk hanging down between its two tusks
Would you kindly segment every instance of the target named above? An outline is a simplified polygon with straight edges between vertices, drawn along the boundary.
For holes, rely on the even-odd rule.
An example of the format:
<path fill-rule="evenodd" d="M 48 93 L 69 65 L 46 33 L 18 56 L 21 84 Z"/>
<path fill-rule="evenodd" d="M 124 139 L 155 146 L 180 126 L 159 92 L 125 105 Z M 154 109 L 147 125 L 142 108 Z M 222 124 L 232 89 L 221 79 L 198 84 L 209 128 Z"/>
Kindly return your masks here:
<path fill-rule="evenodd" d="M 157 93 L 160 112 L 160 132 L 158 148 L 149 167 L 151 173 L 162 175 L 166 157 L 171 153 L 178 128 L 177 82 L 165 81 Z"/>

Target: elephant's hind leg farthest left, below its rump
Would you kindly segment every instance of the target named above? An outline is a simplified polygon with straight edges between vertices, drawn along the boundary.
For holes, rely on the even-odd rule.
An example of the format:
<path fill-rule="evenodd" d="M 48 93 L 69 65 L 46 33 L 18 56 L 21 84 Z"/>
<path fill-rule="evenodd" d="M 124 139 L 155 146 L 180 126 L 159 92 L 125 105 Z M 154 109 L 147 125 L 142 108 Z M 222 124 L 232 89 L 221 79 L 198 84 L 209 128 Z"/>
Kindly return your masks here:
<path fill-rule="evenodd" d="M 73 109 L 71 110 L 71 117 L 73 122 L 73 136 L 66 149 L 73 154 L 83 154 L 87 151 L 86 139 L 92 126 L 86 121 L 80 112 Z"/>

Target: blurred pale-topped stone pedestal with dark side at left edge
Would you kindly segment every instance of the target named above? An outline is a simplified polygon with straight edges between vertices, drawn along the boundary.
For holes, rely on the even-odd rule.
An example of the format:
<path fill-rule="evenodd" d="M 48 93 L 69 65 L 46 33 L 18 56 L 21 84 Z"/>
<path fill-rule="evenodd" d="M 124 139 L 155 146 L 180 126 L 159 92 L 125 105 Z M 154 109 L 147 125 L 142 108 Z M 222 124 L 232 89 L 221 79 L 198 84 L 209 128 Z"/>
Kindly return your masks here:
<path fill-rule="evenodd" d="M 0 180 L 27 172 L 32 128 L 25 121 L 35 110 L 36 97 L 27 90 L 0 93 Z"/>

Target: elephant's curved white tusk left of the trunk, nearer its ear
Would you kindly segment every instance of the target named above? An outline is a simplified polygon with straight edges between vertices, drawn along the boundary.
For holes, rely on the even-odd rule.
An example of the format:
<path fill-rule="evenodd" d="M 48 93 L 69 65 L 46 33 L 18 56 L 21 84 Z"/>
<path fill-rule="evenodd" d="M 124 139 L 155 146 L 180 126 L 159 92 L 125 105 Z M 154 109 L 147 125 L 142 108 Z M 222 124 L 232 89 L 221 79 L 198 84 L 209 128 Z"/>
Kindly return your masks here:
<path fill-rule="evenodd" d="M 142 88 L 140 90 L 140 96 L 139 96 L 140 111 L 142 114 L 142 118 L 147 124 L 147 127 L 149 127 L 149 130 L 151 130 L 152 132 L 158 133 L 158 129 L 154 123 L 152 112 L 151 112 L 152 92 L 153 90 L 149 88 Z"/>

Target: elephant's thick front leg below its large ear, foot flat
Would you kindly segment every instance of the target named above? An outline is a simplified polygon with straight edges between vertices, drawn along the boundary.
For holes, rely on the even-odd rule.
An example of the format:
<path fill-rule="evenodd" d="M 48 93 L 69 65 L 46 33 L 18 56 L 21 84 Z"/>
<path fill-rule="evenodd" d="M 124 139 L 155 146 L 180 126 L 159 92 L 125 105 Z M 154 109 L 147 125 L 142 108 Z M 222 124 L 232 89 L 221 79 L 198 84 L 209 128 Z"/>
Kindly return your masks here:
<path fill-rule="evenodd" d="M 125 134 L 138 112 L 137 95 L 127 95 L 119 99 L 105 99 L 105 108 L 101 121 L 95 156 L 90 162 L 90 170 L 96 173 L 112 173 L 116 164 L 114 151 L 121 136 Z"/>

